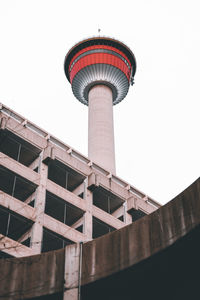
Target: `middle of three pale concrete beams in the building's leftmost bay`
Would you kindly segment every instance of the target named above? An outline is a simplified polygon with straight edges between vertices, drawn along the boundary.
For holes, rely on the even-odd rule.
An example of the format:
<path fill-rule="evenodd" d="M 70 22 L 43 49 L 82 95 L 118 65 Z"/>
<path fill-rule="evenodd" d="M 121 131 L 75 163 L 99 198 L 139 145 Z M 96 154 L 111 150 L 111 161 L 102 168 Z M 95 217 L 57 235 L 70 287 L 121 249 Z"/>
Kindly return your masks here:
<path fill-rule="evenodd" d="M 0 190 L 0 205 L 17 213 L 20 216 L 25 217 L 31 221 L 35 221 L 35 208 L 29 206 L 28 204 L 11 197 L 10 195 L 4 193 Z"/>

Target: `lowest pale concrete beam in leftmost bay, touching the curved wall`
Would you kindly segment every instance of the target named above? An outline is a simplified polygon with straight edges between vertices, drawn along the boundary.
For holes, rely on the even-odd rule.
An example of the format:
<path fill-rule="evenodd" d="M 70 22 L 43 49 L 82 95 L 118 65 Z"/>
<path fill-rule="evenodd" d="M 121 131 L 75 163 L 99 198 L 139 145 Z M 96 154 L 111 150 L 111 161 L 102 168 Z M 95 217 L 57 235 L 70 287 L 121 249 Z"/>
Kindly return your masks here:
<path fill-rule="evenodd" d="M 14 257 L 24 257 L 36 254 L 31 248 L 0 234 L 0 251 Z"/>

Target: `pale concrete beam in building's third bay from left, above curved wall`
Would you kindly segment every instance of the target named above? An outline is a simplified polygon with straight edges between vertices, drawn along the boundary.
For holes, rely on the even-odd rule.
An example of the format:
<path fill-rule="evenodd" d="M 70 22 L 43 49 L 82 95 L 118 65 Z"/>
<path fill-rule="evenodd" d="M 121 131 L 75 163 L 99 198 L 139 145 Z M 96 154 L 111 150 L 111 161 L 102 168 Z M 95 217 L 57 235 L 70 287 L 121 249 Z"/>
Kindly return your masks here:
<path fill-rule="evenodd" d="M 108 214 L 107 212 L 103 211 L 102 209 L 98 208 L 95 205 L 92 206 L 92 215 L 95 218 L 103 221 L 104 223 L 106 223 L 116 229 L 120 229 L 120 228 L 126 226 L 126 224 L 124 222 L 116 219 L 115 217 L 113 217 L 112 215 Z"/>

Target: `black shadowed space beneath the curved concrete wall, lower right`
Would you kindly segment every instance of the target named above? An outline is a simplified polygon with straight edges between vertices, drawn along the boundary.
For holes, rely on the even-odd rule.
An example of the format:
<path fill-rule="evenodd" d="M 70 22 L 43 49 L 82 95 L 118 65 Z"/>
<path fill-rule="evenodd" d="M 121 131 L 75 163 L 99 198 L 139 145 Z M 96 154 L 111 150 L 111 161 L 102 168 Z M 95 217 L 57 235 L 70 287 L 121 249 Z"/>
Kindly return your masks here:
<path fill-rule="evenodd" d="M 200 226 L 129 269 L 81 289 L 82 300 L 199 300 Z"/>

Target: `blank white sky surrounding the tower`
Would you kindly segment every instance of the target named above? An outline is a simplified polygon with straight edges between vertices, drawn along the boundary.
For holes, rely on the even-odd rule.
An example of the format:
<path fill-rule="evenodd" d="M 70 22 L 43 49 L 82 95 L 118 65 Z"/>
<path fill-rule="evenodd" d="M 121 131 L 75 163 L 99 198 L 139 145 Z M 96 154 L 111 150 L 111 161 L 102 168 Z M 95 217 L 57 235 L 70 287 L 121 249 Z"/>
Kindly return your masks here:
<path fill-rule="evenodd" d="M 114 107 L 117 175 L 164 204 L 199 177 L 199 0 L 0 0 L 0 102 L 87 155 L 67 51 L 101 34 L 135 54 Z"/>

